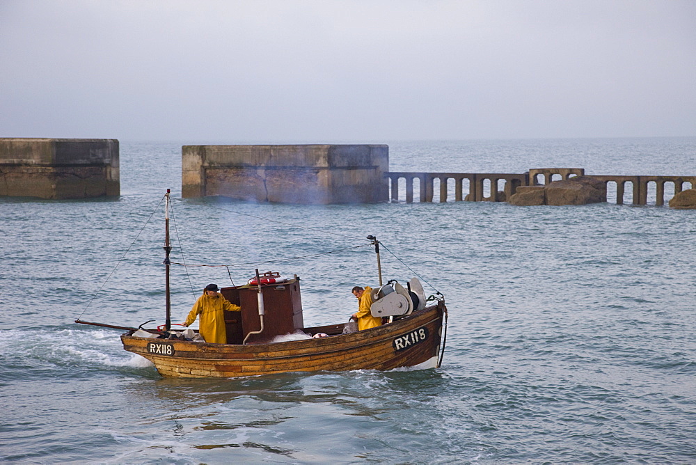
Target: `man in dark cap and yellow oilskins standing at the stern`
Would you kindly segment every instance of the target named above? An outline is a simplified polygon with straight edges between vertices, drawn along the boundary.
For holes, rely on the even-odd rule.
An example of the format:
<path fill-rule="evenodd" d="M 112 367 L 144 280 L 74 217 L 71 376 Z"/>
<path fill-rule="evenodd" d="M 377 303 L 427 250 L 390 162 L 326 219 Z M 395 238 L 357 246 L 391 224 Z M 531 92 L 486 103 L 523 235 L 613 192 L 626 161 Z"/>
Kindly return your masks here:
<path fill-rule="evenodd" d="M 196 316 L 200 315 L 198 333 L 203 336 L 205 342 L 215 342 L 217 344 L 227 343 L 227 331 L 225 330 L 225 312 L 230 310 L 238 312 L 242 308 L 232 304 L 220 294 L 217 285 L 209 284 L 205 286 L 203 295 L 198 297 L 196 304 L 189 312 L 189 316 L 183 323 L 184 326 L 196 321 Z"/>

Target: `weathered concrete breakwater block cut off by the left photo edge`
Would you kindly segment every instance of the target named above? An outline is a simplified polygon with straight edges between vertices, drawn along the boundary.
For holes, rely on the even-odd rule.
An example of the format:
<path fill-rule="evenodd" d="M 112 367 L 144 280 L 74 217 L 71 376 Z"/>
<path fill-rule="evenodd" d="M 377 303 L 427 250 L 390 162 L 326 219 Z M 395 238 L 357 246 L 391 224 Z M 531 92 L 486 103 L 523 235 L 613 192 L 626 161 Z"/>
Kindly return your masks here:
<path fill-rule="evenodd" d="M 116 139 L 0 138 L 0 196 L 120 195 Z"/>

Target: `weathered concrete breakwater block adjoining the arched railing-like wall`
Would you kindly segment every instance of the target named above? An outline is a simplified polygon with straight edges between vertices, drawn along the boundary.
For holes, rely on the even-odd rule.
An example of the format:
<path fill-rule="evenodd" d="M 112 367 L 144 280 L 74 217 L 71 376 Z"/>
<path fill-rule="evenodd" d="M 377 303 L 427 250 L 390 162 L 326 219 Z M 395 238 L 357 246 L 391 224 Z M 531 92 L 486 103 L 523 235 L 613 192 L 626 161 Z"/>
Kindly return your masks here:
<path fill-rule="evenodd" d="M 387 145 L 184 145 L 182 196 L 279 203 L 388 200 Z"/>

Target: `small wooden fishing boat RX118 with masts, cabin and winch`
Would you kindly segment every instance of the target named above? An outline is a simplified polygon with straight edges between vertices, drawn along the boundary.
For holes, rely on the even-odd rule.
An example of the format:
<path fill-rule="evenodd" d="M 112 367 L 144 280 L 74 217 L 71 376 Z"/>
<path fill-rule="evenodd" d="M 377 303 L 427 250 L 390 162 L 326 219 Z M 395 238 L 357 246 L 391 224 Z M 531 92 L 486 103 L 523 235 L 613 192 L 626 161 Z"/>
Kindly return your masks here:
<path fill-rule="evenodd" d="M 172 327 L 170 299 L 169 194 L 165 196 L 165 324 L 147 329 L 76 320 L 125 329 L 123 348 L 147 358 L 163 377 L 246 377 L 282 372 L 438 368 L 445 349 L 447 307 L 442 294 L 425 297 L 417 278 L 406 287 L 382 284 L 380 242 L 367 236 L 377 253 L 379 287 L 370 292 L 370 313 L 380 326 L 356 331 L 354 322 L 304 326 L 299 276 L 260 273 L 244 285 L 222 287 L 240 311 L 225 310 L 226 343 L 200 342 L 192 330 Z M 149 323 L 149 322 L 148 322 Z M 193 333 L 193 337 L 191 336 Z M 283 340 L 287 334 L 299 340 Z"/>

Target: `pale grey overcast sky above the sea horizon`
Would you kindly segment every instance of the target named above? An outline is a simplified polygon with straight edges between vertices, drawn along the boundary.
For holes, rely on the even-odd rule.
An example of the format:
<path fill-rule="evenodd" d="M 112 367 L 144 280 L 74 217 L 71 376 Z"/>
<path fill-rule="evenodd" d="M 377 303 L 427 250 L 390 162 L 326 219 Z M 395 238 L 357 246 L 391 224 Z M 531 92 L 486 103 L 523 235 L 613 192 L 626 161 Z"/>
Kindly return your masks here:
<path fill-rule="evenodd" d="M 0 136 L 696 136 L 696 1 L 0 0 Z"/>

